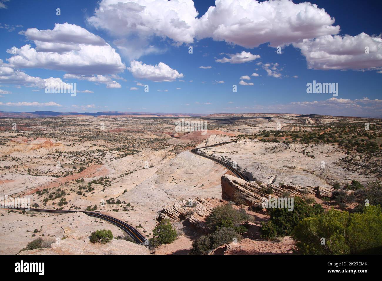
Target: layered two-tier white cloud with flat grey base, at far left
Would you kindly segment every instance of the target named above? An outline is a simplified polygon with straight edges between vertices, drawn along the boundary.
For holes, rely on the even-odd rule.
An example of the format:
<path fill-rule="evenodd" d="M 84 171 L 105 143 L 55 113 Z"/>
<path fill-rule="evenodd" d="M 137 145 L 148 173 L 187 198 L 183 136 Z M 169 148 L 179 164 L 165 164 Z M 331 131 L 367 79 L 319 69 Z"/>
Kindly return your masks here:
<path fill-rule="evenodd" d="M 27 29 L 30 44 L 7 50 L 15 68 L 46 68 L 69 74 L 114 74 L 125 69 L 120 55 L 101 37 L 75 24 L 56 24 L 52 30 Z"/>

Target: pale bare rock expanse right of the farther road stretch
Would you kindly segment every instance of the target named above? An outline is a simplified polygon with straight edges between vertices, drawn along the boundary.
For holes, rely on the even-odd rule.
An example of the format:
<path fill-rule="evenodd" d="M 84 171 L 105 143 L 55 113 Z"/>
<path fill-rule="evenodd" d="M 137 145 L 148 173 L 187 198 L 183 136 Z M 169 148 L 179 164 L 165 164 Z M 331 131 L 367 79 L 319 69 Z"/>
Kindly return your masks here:
<path fill-rule="evenodd" d="M 211 136 L 199 147 L 230 141 L 228 137 Z M 303 154 L 303 152 L 310 152 Z M 340 166 L 345 151 L 326 145 L 302 145 L 299 143 L 269 143 L 258 140 L 241 140 L 212 148 L 200 149 L 206 154 L 236 167 L 250 180 L 265 184 L 285 183 L 299 186 L 331 187 L 334 182 L 345 185 L 352 179 L 361 184 L 376 180 L 373 175 L 359 175 L 356 171 Z"/>

